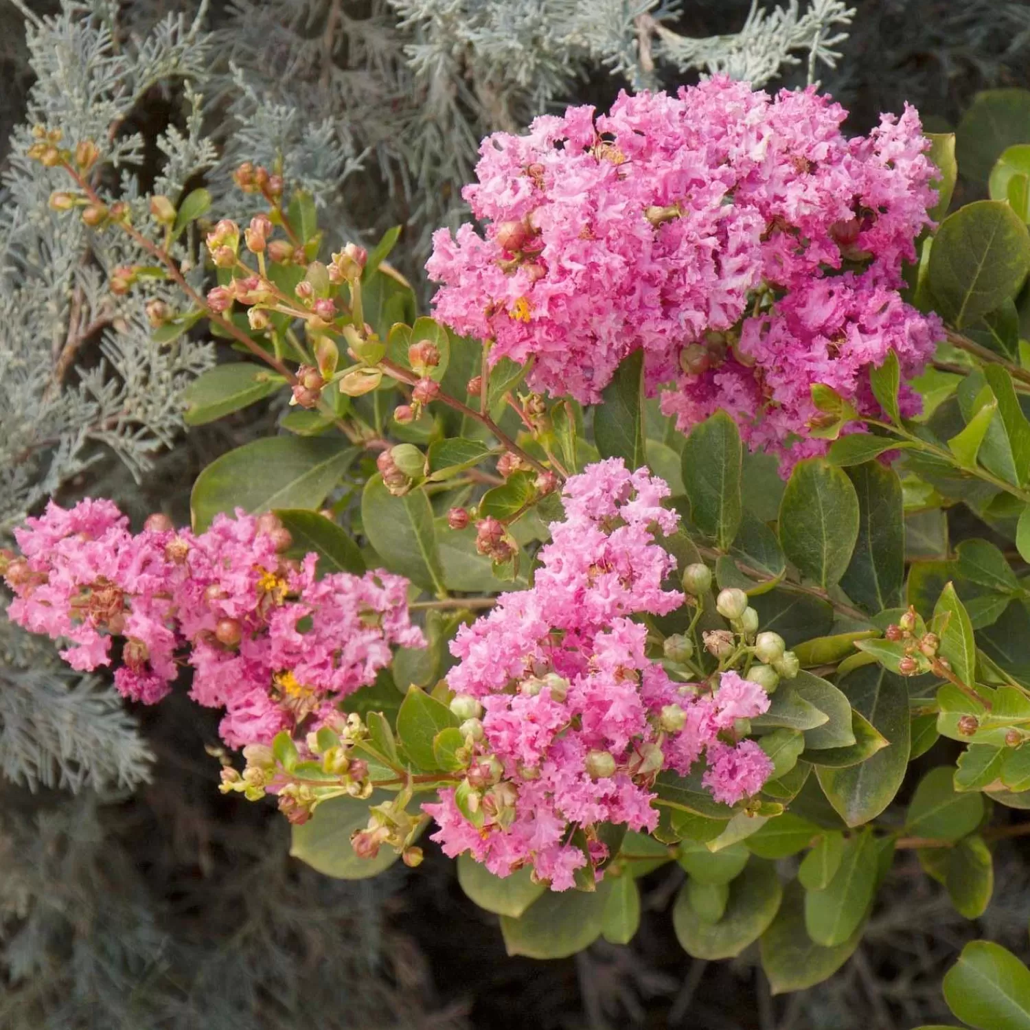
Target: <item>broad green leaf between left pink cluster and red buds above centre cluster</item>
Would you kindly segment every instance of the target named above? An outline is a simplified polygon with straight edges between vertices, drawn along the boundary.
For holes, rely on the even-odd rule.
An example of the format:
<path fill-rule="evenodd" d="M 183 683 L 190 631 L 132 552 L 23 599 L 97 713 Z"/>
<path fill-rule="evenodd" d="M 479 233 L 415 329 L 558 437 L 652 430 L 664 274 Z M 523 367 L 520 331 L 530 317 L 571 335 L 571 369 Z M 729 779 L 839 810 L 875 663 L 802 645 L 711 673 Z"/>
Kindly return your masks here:
<path fill-rule="evenodd" d="M 443 592 L 433 506 L 422 490 L 396 497 L 377 473 L 362 493 L 362 527 L 390 572 Z"/>

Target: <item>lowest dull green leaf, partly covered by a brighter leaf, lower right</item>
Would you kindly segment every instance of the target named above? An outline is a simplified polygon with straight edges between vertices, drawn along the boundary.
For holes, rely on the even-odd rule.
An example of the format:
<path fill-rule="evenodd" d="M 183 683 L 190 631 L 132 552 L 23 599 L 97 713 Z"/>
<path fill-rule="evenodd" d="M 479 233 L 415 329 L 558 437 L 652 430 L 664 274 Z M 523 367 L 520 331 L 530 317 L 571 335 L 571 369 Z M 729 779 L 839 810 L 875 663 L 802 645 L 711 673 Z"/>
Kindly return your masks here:
<path fill-rule="evenodd" d="M 774 994 L 803 991 L 832 976 L 851 958 L 862 927 L 843 943 L 823 948 L 804 928 L 804 894 L 796 883 L 784 890 L 783 903 L 761 936 L 762 968 Z"/>

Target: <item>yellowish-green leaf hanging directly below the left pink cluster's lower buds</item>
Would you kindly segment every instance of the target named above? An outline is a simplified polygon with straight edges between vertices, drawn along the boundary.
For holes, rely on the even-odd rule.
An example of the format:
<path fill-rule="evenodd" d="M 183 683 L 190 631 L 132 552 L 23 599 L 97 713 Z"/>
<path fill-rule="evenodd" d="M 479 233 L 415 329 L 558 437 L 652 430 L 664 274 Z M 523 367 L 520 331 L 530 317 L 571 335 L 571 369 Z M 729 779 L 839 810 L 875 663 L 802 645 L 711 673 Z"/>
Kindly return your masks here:
<path fill-rule="evenodd" d="M 370 805 L 382 804 L 396 796 L 390 791 L 376 790 L 364 801 L 356 797 L 331 797 L 320 802 L 306 823 L 290 827 L 289 854 L 318 872 L 339 880 L 378 876 L 400 856 L 385 846 L 375 858 L 358 858 L 350 846 L 350 835 L 368 825 Z"/>

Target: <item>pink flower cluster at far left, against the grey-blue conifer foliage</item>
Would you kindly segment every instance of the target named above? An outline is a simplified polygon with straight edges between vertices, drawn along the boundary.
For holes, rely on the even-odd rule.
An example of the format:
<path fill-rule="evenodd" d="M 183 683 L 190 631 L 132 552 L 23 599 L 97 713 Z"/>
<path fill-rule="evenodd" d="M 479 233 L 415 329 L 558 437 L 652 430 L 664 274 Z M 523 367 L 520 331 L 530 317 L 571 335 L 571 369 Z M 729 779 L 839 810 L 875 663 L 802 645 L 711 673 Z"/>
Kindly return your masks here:
<path fill-rule="evenodd" d="M 237 511 L 201 534 L 156 516 L 133 535 L 109 501 L 52 502 L 14 531 L 24 557 L 6 559 L 7 614 L 68 641 L 62 656 L 77 670 L 109 665 L 123 638 L 114 682 L 145 703 L 169 692 L 185 662 L 194 699 L 226 709 L 226 743 L 267 744 L 333 719 L 341 697 L 388 664 L 391 644 L 424 644 L 409 621 L 407 580 L 317 579 L 315 554 L 279 553 L 284 533 L 275 516 Z"/>

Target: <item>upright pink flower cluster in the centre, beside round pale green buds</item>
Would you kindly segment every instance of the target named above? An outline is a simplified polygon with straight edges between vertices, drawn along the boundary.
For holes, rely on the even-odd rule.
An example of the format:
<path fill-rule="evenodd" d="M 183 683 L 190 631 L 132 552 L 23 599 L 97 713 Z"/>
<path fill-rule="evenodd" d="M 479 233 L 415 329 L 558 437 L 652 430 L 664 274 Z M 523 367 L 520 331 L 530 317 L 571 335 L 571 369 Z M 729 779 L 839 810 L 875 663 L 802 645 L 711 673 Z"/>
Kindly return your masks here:
<path fill-rule="evenodd" d="M 550 526 L 534 586 L 504 594 L 458 631 L 451 651 L 460 660 L 447 682 L 484 710 L 472 768 L 485 793 L 476 821 L 455 790 L 424 805 L 448 855 L 470 852 L 502 877 L 530 864 L 565 890 L 577 869 L 607 856 L 600 824 L 655 827 L 660 770 L 686 775 L 705 755 L 703 782 L 729 804 L 768 777 L 764 752 L 734 728 L 767 709 L 764 691 L 734 673 L 714 693 L 674 682 L 646 655 L 647 627 L 630 618 L 684 603 L 662 585 L 675 560 L 655 542 L 676 529 L 677 514 L 661 506 L 668 492 L 620 458 L 571 477 L 565 520 Z"/>

